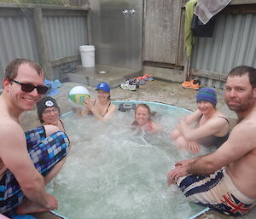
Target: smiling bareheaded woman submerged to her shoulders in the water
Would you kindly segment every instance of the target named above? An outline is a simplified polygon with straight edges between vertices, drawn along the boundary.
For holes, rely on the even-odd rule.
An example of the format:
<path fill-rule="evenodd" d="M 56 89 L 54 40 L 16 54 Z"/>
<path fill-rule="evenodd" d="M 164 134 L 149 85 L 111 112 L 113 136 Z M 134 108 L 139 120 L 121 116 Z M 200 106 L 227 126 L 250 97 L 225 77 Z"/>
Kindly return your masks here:
<path fill-rule="evenodd" d="M 156 124 L 152 118 L 152 112 L 147 104 L 138 104 L 135 110 L 135 121 L 131 124 L 133 128 L 142 129 L 148 132 L 160 130 L 160 124 Z"/>

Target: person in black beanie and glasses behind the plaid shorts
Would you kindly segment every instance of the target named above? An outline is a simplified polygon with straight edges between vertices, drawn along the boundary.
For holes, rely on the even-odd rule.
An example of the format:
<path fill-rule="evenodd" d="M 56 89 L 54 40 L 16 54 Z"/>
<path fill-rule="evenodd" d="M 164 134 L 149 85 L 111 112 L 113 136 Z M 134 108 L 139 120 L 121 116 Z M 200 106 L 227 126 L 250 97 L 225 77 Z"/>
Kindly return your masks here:
<path fill-rule="evenodd" d="M 64 124 L 61 121 L 61 110 L 55 98 L 51 96 L 44 96 L 37 102 L 38 118 L 41 124 L 54 124 L 60 130 L 65 131 Z"/>

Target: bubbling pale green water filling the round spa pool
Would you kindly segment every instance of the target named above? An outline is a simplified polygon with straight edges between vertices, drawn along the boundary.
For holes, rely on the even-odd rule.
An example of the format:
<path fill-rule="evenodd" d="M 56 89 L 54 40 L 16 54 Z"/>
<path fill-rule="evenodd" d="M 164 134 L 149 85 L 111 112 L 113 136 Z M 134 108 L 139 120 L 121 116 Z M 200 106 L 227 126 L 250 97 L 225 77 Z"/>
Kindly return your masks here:
<path fill-rule="evenodd" d="M 113 103 L 119 108 L 122 102 Z M 64 115 L 71 150 L 47 187 L 59 200 L 57 212 L 69 219 L 177 219 L 204 210 L 166 182 L 178 160 L 195 156 L 177 151 L 170 139 L 177 119 L 190 112 L 148 101 L 125 103 L 147 103 L 163 130 L 156 135 L 132 130 L 134 111 L 117 111 L 108 123 Z"/>

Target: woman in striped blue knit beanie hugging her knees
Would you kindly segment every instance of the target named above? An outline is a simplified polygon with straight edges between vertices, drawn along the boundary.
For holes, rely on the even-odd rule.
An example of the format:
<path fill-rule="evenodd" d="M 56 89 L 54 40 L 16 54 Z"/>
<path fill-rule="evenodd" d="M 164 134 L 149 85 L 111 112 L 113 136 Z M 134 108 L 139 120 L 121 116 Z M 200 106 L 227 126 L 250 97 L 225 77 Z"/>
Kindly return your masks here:
<path fill-rule="evenodd" d="M 217 96 L 214 89 L 203 88 L 197 92 L 198 109 L 182 118 L 171 137 L 177 148 L 199 153 L 200 145 L 220 147 L 230 134 L 230 124 L 223 113 L 216 108 Z M 195 124 L 194 128 L 190 124 Z"/>

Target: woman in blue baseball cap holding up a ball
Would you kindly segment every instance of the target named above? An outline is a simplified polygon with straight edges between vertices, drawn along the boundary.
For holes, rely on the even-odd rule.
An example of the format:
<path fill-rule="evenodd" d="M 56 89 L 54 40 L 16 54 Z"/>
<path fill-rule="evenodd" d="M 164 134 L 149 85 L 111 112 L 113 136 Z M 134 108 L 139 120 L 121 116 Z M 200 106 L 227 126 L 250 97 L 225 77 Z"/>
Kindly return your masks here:
<path fill-rule="evenodd" d="M 107 83 L 100 83 L 96 86 L 96 99 L 85 98 L 84 109 L 81 114 L 94 115 L 97 120 L 107 121 L 115 111 L 116 107 L 110 101 L 110 88 Z"/>

